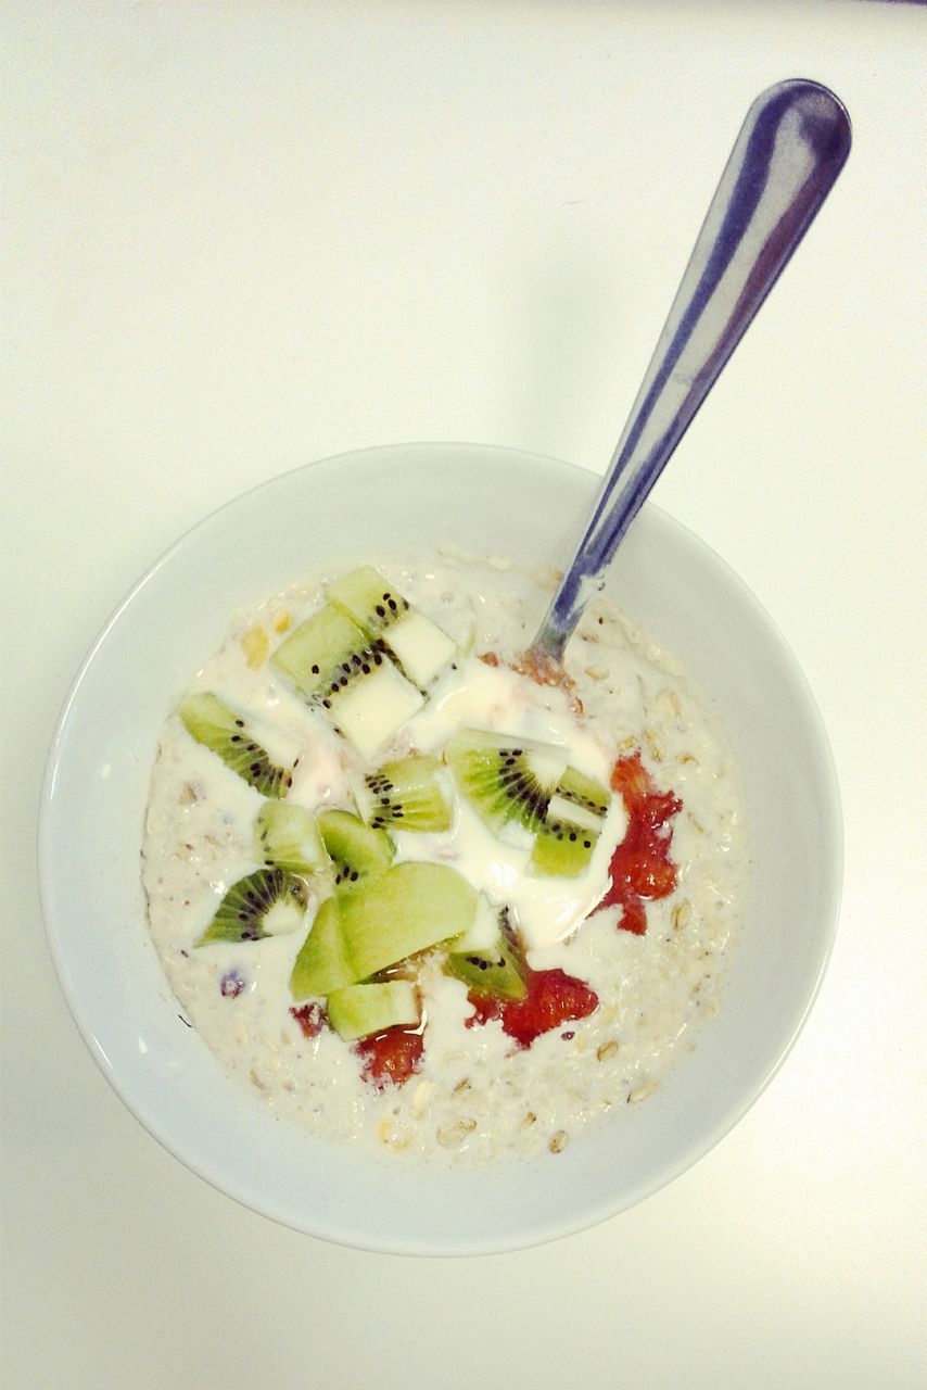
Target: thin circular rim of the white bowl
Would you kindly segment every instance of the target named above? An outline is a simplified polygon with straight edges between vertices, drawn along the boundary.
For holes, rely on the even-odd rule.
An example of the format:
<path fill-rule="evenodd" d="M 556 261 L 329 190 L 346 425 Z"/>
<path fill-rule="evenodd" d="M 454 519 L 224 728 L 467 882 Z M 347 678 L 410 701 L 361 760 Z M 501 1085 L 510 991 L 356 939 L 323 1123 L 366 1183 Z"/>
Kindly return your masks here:
<path fill-rule="evenodd" d="M 511 1234 L 502 1234 L 498 1241 L 488 1238 L 475 1240 L 471 1245 L 466 1241 L 457 1241 L 454 1248 L 445 1248 L 443 1244 L 431 1244 L 421 1240 L 386 1240 L 386 1238 L 370 1238 L 363 1234 L 363 1230 L 345 1230 L 345 1229 L 325 1229 L 324 1223 L 314 1220 L 311 1223 L 304 1219 L 295 1219 L 295 1213 L 286 1209 L 284 1202 L 272 1204 L 268 1201 L 260 1202 L 253 1194 L 242 1190 L 239 1184 L 225 1179 L 221 1173 L 208 1170 L 202 1163 L 193 1161 L 189 1154 L 183 1151 L 182 1144 L 172 1136 L 170 1129 L 167 1129 L 158 1119 L 146 1108 L 140 1099 L 132 1093 L 129 1084 L 121 1077 L 117 1068 L 107 1056 L 103 1049 L 93 1027 L 93 1020 L 88 1017 L 88 1011 L 85 1002 L 75 988 L 71 973 L 67 963 L 67 945 L 65 940 L 60 931 L 58 923 L 54 920 L 54 912 L 51 910 L 53 902 L 53 880 L 54 880 L 54 863 L 53 863 L 53 840 L 51 840 L 51 817 L 53 817 L 53 799 L 56 791 L 56 783 L 60 770 L 60 762 L 63 756 L 63 745 L 65 733 L 68 728 L 68 720 L 72 709 L 75 708 L 82 687 L 88 678 L 88 673 L 93 663 L 97 660 L 100 651 L 104 648 L 110 634 L 121 623 L 128 610 L 140 595 L 140 592 L 151 584 L 156 577 L 171 564 L 172 559 L 178 552 L 196 543 L 197 537 L 214 527 L 221 521 L 222 516 L 231 509 L 239 507 L 247 503 L 250 499 L 256 498 L 259 493 L 267 493 L 277 488 L 285 488 L 286 484 L 296 478 L 296 475 L 309 474 L 317 468 L 325 466 L 343 466 L 347 460 L 352 463 L 363 461 L 364 459 L 371 459 L 377 455 L 396 455 L 397 450 L 417 453 L 417 455 L 431 455 L 434 456 L 436 450 L 478 450 L 486 456 L 492 455 L 495 457 L 507 456 L 513 460 L 545 463 L 555 467 L 556 470 L 566 470 L 575 475 L 581 475 L 584 481 L 593 482 L 596 480 L 595 471 L 585 468 L 580 464 L 570 463 L 561 459 L 556 459 L 548 455 L 539 455 L 534 450 L 523 450 L 509 446 L 499 446 L 492 443 L 470 443 L 466 441 L 443 441 L 443 442 L 428 442 L 416 441 L 410 443 L 388 443 L 388 445 L 374 445 L 366 449 L 347 450 L 339 455 L 331 455 L 324 459 L 310 460 L 303 464 L 297 464 L 281 474 L 275 474 L 252 488 L 227 499 L 213 512 L 202 517 L 185 532 L 182 532 L 165 550 L 163 550 L 157 559 L 149 564 L 149 567 L 142 573 L 142 575 L 135 581 L 135 584 L 128 589 L 125 596 L 118 602 L 118 605 L 111 610 L 107 620 L 100 627 L 96 638 L 90 644 L 86 656 L 81 662 L 81 666 L 74 676 L 65 699 L 61 705 L 58 717 L 54 726 L 54 734 L 50 742 L 39 809 L 39 826 L 38 826 L 38 841 L 36 841 L 36 856 L 38 856 L 38 876 L 39 876 L 39 895 L 42 902 L 42 912 L 44 920 L 44 935 L 51 955 L 53 966 L 58 979 L 58 984 L 68 1004 L 68 1009 L 82 1037 L 85 1045 L 88 1047 L 95 1062 L 103 1072 L 106 1080 L 110 1083 L 115 1094 L 131 1111 L 135 1119 L 143 1125 L 145 1129 L 177 1159 L 179 1159 L 185 1168 L 196 1173 L 199 1177 L 210 1183 L 215 1190 L 224 1193 L 239 1201 L 249 1209 L 257 1211 L 270 1219 L 304 1232 L 307 1234 L 315 1236 L 317 1238 L 324 1238 L 342 1245 L 371 1250 L 378 1252 L 389 1254 L 406 1254 L 406 1255 L 481 1255 L 481 1254 L 496 1254 L 513 1250 L 528 1248 L 536 1244 L 542 1244 L 550 1240 L 557 1240 L 564 1236 L 577 1233 L 580 1230 L 588 1229 L 600 1220 L 610 1219 L 620 1212 L 630 1209 L 639 1201 L 659 1191 L 662 1187 L 674 1182 L 681 1173 L 688 1170 L 695 1162 L 703 1158 L 716 1144 L 720 1143 L 744 1118 L 744 1115 L 752 1108 L 752 1105 L 759 1099 L 766 1087 L 773 1081 L 780 1068 L 784 1065 L 789 1056 L 795 1042 L 798 1041 L 805 1023 L 814 1006 L 819 997 L 827 967 L 831 959 L 834 940 L 837 934 L 837 926 L 839 920 L 839 906 L 844 881 L 844 823 L 842 823 L 842 808 L 839 795 L 839 783 L 837 777 L 837 767 L 834 760 L 832 748 L 827 735 L 827 730 L 819 710 L 817 702 L 814 701 L 813 692 L 805 677 L 805 673 L 795 657 L 794 652 L 788 646 L 778 624 L 763 607 L 759 598 L 746 585 L 746 582 L 732 570 L 732 567 L 720 556 L 710 545 L 702 541 L 695 532 L 692 532 L 684 523 L 664 512 L 662 507 L 653 503 L 646 503 L 645 510 L 649 513 L 659 525 L 664 527 L 668 532 L 674 532 L 677 539 L 682 543 L 695 546 L 710 560 L 712 566 L 724 578 L 727 587 L 752 610 L 753 616 L 762 623 L 766 630 L 766 635 L 776 644 L 778 656 L 787 670 L 788 678 L 794 689 L 801 695 L 802 703 L 805 706 L 805 713 L 809 719 L 810 733 L 813 735 L 813 742 L 817 751 L 817 771 L 820 777 L 819 790 L 826 799 L 826 813 L 827 826 L 824 834 L 824 842 L 827 845 L 828 853 L 824 856 L 823 865 L 823 883 L 821 892 L 827 902 L 827 920 L 821 922 L 820 926 L 820 945 L 817 954 L 817 969 L 813 979 L 806 981 L 803 991 L 803 1006 L 795 1015 L 794 1024 L 788 1037 L 780 1042 L 777 1058 L 771 1066 L 767 1068 L 766 1073 L 753 1084 L 749 1093 L 741 1097 L 741 1101 L 734 1108 L 728 1108 L 723 1118 L 713 1126 L 710 1131 L 699 1134 L 696 1144 L 689 1144 L 684 1152 L 677 1156 L 677 1161 L 659 1168 L 652 1182 L 638 1184 L 639 1190 L 632 1191 L 630 1195 L 621 1197 L 616 1195 L 616 1200 L 609 1205 L 609 1209 L 602 1209 L 602 1205 L 596 1208 L 595 1212 L 586 1209 L 577 1211 L 570 1216 L 563 1216 L 560 1220 L 546 1219 L 543 1225 L 539 1225 L 536 1230 L 524 1232 L 521 1237 L 513 1238 Z"/>

